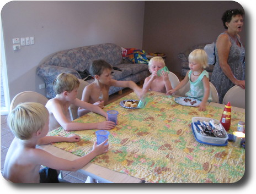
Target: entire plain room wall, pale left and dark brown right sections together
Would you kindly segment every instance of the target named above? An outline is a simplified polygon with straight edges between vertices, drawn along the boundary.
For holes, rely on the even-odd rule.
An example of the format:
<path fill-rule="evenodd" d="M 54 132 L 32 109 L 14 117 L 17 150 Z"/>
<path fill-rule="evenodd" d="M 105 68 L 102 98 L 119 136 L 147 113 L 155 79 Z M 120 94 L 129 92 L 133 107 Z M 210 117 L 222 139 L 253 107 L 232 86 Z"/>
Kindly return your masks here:
<path fill-rule="evenodd" d="M 111 42 L 167 54 L 180 71 L 180 51 L 216 40 L 221 15 L 234 1 L 11 1 L 1 11 L 10 100 L 19 92 L 45 95 L 36 67 L 63 49 Z M 13 51 L 12 38 L 35 37 L 35 45 Z M 245 41 L 244 32 L 241 34 Z M 3 43 L 3 42 L 1 42 Z"/>

